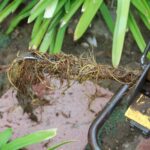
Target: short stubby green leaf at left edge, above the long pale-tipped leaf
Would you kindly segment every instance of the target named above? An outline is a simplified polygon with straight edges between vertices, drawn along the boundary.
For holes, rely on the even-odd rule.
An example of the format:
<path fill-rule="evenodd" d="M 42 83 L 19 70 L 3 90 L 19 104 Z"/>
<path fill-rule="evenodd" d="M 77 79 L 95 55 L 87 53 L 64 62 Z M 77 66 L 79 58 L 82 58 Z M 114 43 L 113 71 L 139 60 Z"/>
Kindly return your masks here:
<path fill-rule="evenodd" d="M 12 136 L 12 129 L 8 128 L 0 133 L 0 147 L 6 144 Z"/>

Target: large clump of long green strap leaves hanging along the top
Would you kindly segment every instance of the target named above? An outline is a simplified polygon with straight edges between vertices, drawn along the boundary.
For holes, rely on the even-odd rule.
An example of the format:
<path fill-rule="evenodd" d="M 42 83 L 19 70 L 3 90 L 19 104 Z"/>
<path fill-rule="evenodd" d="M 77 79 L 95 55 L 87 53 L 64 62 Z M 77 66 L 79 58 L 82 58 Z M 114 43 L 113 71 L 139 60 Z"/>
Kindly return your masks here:
<path fill-rule="evenodd" d="M 4 0 L 0 4 L 0 22 L 23 5 L 22 10 L 11 21 L 6 33 L 11 33 L 21 20 L 28 18 L 28 23 L 34 21 L 29 48 L 39 49 L 43 53 L 59 53 L 69 21 L 80 8 L 82 14 L 74 32 L 74 40 L 80 39 L 94 16 L 101 13 L 109 31 L 113 34 L 112 64 L 118 67 L 127 29 L 132 33 L 141 52 L 146 46 L 137 18 L 141 19 L 149 31 L 150 1 L 116 1 L 116 20 L 113 21 L 104 0 Z"/>

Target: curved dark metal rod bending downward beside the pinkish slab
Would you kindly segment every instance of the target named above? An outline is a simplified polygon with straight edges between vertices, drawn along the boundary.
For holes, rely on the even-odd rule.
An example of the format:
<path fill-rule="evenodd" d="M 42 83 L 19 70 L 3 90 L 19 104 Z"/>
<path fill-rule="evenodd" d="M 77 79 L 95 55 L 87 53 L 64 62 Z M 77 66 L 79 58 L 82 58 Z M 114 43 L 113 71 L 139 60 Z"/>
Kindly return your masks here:
<path fill-rule="evenodd" d="M 128 87 L 128 85 L 124 85 L 123 87 L 121 87 L 117 94 L 112 97 L 109 105 L 105 107 L 102 112 L 99 112 L 97 118 L 91 124 L 88 132 L 88 143 L 90 145 L 91 150 L 101 150 L 97 141 L 98 131 L 108 119 L 110 114 L 113 112 L 117 104 L 121 101 L 122 96 L 128 90 Z"/>

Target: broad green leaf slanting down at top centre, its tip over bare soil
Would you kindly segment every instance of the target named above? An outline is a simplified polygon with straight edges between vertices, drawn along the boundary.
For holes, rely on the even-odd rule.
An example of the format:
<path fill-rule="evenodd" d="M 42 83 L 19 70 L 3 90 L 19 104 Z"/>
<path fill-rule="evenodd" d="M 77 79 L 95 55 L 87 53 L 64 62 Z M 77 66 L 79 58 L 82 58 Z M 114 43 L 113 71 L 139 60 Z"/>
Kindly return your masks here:
<path fill-rule="evenodd" d="M 90 25 L 103 0 L 91 0 L 82 14 L 74 33 L 74 40 L 78 40 Z"/>

